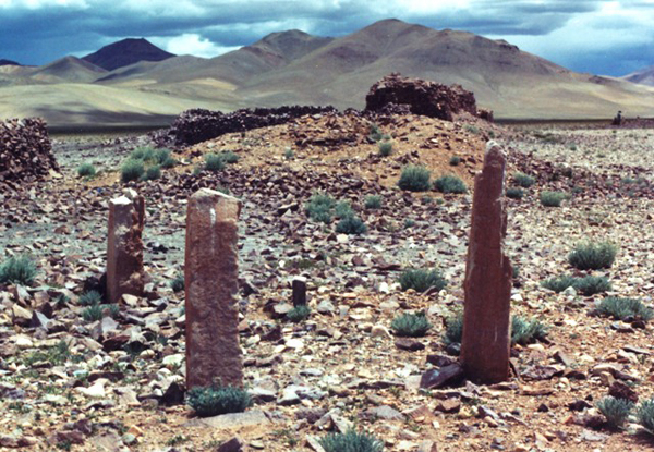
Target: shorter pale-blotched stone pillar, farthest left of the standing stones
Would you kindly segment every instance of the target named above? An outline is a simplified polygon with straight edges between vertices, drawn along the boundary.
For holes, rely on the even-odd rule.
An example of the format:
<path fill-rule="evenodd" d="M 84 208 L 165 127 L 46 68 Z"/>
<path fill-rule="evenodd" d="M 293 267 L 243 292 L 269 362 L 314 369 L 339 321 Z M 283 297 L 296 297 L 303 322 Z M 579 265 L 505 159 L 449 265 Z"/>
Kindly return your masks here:
<path fill-rule="evenodd" d="M 109 201 L 107 240 L 107 302 L 123 294 L 143 295 L 143 223 L 145 200 L 133 190 Z"/>

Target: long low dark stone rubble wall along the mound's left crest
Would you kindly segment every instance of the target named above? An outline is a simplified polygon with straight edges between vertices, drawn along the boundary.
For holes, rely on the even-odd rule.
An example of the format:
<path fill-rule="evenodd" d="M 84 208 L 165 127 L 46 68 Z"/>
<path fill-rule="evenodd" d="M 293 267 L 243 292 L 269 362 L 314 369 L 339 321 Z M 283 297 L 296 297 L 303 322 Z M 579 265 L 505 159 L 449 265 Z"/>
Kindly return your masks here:
<path fill-rule="evenodd" d="M 154 136 L 160 146 L 189 146 L 233 132 L 284 124 L 306 114 L 335 112 L 334 107 L 292 106 L 237 110 L 231 113 L 193 109 L 182 112 L 167 131 Z"/>

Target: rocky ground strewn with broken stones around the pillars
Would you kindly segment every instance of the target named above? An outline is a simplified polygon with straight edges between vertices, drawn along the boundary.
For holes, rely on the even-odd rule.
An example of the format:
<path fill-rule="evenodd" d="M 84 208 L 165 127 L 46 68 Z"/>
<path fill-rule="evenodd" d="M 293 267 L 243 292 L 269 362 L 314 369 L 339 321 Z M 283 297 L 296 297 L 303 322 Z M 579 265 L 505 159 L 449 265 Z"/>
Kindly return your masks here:
<path fill-rule="evenodd" d="M 55 137 L 61 176 L 0 194 L 2 259 L 28 254 L 34 286 L 0 286 L 0 447 L 52 451 L 210 451 L 239 436 L 247 450 L 314 450 L 328 431 L 358 429 L 389 451 L 641 451 L 654 445 L 633 426 L 611 431 L 596 401 L 622 381 L 651 398 L 652 326 L 590 316 L 604 295 L 556 294 L 545 279 L 573 270 L 567 255 L 584 239 L 619 245 L 603 272 L 611 294 L 652 306 L 654 294 L 654 133 L 651 130 L 509 130 L 477 119 L 415 115 L 380 123 L 393 152 L 380 157 L 370 124 L 355 115 L 314 115 L 229 134 L 179 149 L 161 179 L 130 183 L 146 198 L 148 295 L 128 297 L 116 320 L 87 322 L 77 298 L 101 276 L 108 200 L 116 171 L 146 136 Z M 402 167 L 453 173 L 472 186 L 485 142 L 509 154 L 536 184 L 507 199 L 507 247 L 518 266 L 512 311 L 541 318 L 546 341 L 516 346 L 513 378 L 493 387 L 461 382 L 421 390 L 421 376 L 446 365 L 444 319 L 462 306 L 471 195 L 397 188 Z M 232 150 L 218 173 L 194 168 Z M 450 166 L 452 156 L 461 157 Z M 76 168 L 93 162 L 92 180 Z M 184 381 L 185 203 L 202 186 L 244 203 L 240 308 L 245 377 L 256 403 L 245 415 L 199 419 L 179 403 Z M 349 200 L 363 235 L 311 221 L 315 191 Z M 545 208 L 542 191 L 569 195 Z M 380 209 L 366 209 L 368 195 Z M 440 269 L 439 293 L 401 292 L 403 269 Z M 308 280 L 308 320 L 283 321 L 295 276 Z M 390 322 L 426 310 L 425 338 L 400 340 Z M 640 328 L 639 328 L 640 327 Z"/>

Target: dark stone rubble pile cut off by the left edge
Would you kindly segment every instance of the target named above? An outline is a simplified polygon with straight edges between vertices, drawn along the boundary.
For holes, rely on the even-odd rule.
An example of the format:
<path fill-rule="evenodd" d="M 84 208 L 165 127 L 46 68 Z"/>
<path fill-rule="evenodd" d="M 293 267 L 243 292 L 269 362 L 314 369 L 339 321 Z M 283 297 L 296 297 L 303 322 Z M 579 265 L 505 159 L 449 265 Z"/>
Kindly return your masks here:
<path fill-rule="evenodd" d="M 0 121 L 0 184 L 31 183 L 59 167 L 40 118 Z"/>

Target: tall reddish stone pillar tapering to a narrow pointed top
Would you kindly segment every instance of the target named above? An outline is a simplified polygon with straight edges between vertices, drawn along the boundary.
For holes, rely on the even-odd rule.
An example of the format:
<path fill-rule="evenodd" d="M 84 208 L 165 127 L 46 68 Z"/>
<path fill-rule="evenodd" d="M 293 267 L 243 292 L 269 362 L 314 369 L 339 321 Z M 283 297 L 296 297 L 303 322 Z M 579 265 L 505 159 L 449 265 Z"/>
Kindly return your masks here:
<path fill-rule="evenodd" d="M 474 181 L 465 267 L 461 364 L 468 379 L 496 383 L 509 378 L 511 262 L 504 252 L 507 213 L 502 200 L 506 157 L 489 142 Z"/>

